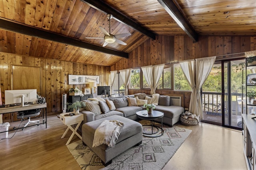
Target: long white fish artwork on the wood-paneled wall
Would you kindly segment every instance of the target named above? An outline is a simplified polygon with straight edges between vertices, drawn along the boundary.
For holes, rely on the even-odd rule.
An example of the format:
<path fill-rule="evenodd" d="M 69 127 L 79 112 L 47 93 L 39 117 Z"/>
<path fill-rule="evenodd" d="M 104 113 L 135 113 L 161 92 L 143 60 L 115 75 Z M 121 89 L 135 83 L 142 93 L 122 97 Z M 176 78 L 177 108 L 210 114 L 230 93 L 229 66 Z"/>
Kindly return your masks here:
<path fill-rule="evenodd" d="M 87 84 L 88 82 L 96 81 L 100 83 L 100 76 L 87 76 L 87 75 L 72 75 L 68 74 L 68 84 Z"/>

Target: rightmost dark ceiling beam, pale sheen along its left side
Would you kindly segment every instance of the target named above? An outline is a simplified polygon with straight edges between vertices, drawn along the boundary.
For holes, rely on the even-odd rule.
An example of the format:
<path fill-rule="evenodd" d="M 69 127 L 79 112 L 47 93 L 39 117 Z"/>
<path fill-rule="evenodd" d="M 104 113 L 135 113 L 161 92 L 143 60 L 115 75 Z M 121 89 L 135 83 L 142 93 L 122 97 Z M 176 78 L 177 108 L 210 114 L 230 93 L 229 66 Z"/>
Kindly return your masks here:
<path fill-rule="evenodd" d="M 186 18 L 182 15 L 180 10 L 177 8 L 176 4 L 172 0 L 158 0 L 158 2 L 164 7 L 166 12 L 178 23 L 178 25 L 183 29 L 183 31 L 188 34 L 194 42 L 198 41 L 198 34 Z"/>

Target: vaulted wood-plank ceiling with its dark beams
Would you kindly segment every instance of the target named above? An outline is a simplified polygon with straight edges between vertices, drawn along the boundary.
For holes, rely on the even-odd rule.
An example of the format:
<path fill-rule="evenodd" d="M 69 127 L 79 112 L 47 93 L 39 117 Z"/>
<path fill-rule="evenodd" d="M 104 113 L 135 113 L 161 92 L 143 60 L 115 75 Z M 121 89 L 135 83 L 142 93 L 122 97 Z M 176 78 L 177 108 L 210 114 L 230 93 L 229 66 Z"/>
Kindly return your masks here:
<path fill-rule="evenodd" d="M 109 43 L 110 33 L 131 33 Z M 111 66 L 157 35 L 256 35 L 255 0 L 1 0 L 0 52 Z"/>

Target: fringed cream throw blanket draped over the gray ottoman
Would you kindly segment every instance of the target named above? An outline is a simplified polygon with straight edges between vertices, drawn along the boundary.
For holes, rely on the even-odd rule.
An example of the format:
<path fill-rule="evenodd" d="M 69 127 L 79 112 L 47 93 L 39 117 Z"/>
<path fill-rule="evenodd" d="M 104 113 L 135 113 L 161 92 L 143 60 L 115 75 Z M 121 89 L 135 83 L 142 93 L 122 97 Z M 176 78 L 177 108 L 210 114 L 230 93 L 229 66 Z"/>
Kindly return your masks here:
<path fill-rule="evenodd" d="M 98 147 L 102 144 L 114 147 L 123 127 L 124 123 L 121 121 L 104 120 L 94 133 L 92 147 Z"/>

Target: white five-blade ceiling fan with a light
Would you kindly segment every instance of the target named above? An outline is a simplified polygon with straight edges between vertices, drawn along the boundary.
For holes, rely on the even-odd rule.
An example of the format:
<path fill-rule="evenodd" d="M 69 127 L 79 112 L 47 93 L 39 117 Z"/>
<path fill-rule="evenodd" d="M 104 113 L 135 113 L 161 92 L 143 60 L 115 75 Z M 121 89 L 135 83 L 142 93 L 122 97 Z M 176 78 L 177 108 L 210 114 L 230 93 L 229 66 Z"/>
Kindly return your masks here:
<path fill-rule="evenodd" d="M 111 34 L 110 33 L 110 20 L 112 18 L 112 14 L 107 14 L 107 18 L 109 20 L 109 33 L 103 27 L 100 27 L 102 33 L 104 34 L 104 37 L 86 37 L 86 38 L 104 39 L 105 42 L 102 45 L 103 47 L 108 45 L 108 43 L 118 43 L 118 44 L 121 44 L 121 45 L 127 45 L 125 42 L 121 41 L 119 38 L 127 37 L 127 36 L 130 36 L 132 34 L 131 33 L 121 33 L 121 34 L 116 34 L 116 35 Z"/>

